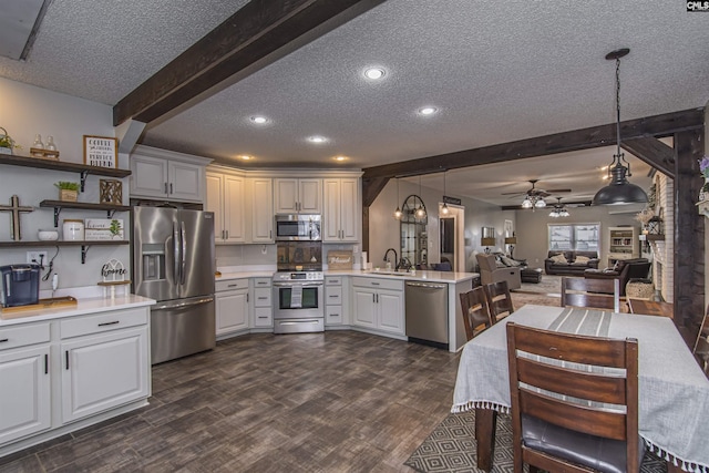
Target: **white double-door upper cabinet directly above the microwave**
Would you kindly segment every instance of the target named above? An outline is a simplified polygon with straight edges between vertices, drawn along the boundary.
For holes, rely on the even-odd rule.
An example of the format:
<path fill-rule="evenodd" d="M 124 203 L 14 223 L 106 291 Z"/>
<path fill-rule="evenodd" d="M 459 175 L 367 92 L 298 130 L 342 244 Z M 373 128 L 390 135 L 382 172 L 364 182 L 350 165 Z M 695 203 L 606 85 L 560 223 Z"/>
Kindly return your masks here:
<path fill-rule="evenodd" d="M 322 179 L 274 179 L 276 214 L 320 214 Z"/>

